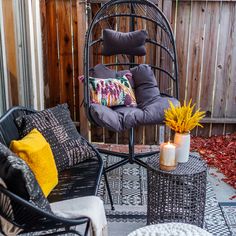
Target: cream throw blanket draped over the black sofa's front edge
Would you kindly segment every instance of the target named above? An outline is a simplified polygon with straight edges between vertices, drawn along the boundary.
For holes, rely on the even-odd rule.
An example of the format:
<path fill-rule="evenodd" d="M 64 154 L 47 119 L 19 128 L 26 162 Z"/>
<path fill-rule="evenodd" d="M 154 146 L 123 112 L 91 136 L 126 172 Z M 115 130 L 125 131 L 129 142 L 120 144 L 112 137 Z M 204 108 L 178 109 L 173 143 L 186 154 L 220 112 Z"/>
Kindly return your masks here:
<path fill-rule="evenodd" d="M 107 236 L 107 220 L 103 202 L 99 197 L 74 198 L 50 204 L 53 213 L 64 218 L 86 216 L 91 220 L 92 236 Z"/>

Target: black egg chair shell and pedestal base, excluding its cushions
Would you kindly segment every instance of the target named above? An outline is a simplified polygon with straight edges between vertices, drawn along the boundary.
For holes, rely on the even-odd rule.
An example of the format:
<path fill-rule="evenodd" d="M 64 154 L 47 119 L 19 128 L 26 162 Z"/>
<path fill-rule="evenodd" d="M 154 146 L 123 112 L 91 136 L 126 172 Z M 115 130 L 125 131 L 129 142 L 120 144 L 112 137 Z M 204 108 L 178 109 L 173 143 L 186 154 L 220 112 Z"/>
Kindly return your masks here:
<path fill-rule="evenodd" d="M 103 45 L 102 31 L 107 28 L 116 31 L 122 31 L 122 29 L 120 29 L 121 24 L 117 23 L 119 22 L 119 19 L 127 19 L 127 28 L 129 28 L 128 32 L 139 30 L 140 25 L 141 28 L 146 28 L 149 36 L 145 45 L 152 45 L 152 47 L 155 48 L 154 52 L 156 54 L 156 58 L 158 58 L 159 61 L 157 63 L 156 59 L 145 64 L 148 64 L 152 68 L 158 81 L 161 96 L 175 97 L 178 99 L 178 63 L 175 39 L 171 26 L 163 12 L 156 4 L 149 0 L 111 0 L 102 5 L 102 7 L 95 14 L 88 27 L 85 37 L 84 106 L 88 120 L 98 126 L 99 124 L 97 124 L 94 120 L 90 110 L 90 69 L 95 66 L 95 61 L 98 61 L 94 60 L 94 56 L 97 55 L 99 58 L 103 58 L 103 55 L 101 55 L 101 48 Z M 116 23 L 114 23 L 114 21 Z M 138 24 L 138 22 L 142 22 L 142 24 Z M 148 24 L 153 26 L 152 29 L 154 29 L 155 32 L 148 29 Z M 97 33 L 98 31 L 100 31 L 99 34 Z M 98 35 L 97 37 L 94 36 L 95 33 Z M 162 58 L 164 58 L 164 60 Z M 144 61 L 145 60 L 146 59 L 144 58 Z M 130 69 L 132 67 L 138 66 L 141 63 L 136 56 L 115 55 L 115 60 L 103 64 L 106 67 L 112 67 L 118 70 L 119 68 Z M 165 80 L 164 83 L 168 84 L 165 89 L 162 89 L 163 80 Z M 159 124 L 163 124 L 163 120 Z M 157 151 L 148 153 L 135 153 L 134 128 L 135 127 L 131 127 L 129 129 L 128 153 L 118 153 L 99 149 L 101 153 L 118 156 L 121 158 L 119 162 L 106 167 L 106 173 L 127 163 L 136 163 L 146 168 L 147 164 L 142 160 L 142 158 L 157 153 Z M 112 202 L 111 194 L 109 194 L 109 196 Z"/>

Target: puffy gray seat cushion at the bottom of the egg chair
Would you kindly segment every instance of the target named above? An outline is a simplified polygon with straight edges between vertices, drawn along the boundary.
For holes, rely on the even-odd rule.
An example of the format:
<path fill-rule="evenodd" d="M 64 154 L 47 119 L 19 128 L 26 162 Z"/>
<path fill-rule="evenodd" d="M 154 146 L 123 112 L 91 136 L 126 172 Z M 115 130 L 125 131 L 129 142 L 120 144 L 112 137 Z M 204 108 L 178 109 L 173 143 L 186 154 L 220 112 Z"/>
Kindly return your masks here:
<path fill-rule="evenodd" d="M 115 107 L 113 109 L 102 105 L 92 104 L 91 115 L 101 127 L 121 132 L 139 125 L 158 124 L 164 120 L 164 110 L 169 107 L 168 100 L 178 105 L 175 98 L 158 96 L 145 107 Z"/>

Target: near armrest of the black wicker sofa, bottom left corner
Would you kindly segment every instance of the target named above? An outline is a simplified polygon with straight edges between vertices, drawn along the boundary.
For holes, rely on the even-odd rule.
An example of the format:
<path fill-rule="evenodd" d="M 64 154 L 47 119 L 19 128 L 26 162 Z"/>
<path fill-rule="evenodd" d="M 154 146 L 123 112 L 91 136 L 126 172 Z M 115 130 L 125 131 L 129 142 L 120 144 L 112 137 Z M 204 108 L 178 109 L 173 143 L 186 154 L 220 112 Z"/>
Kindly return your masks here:
<path fill-rule="evenodd" d="M 76 226 L 89 222 L 88 217 L 62 218 L 44 211 L 0 186 L 0 215 L 27 232 Z M 4 201 L 2 201 L 4 199 Z"/>

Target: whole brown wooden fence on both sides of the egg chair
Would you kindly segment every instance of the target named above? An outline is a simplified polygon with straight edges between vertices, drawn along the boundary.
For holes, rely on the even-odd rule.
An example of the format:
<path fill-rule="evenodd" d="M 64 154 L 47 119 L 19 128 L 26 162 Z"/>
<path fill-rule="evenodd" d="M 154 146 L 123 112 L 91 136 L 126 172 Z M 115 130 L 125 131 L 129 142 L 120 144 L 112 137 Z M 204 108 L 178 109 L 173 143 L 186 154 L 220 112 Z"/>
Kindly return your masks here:
<path fill-rule="evenodd" d="M 90 2 L 90 7 L 85 8 L 80 0 L 41 0 L 45 101 L 48 107 L 67 102 L 81 133 L 91 135 L 92 141 L 125 143 L 127 132 L 116 134 L 90 127 L 81 106 L 83 88 L 77 77 L 83 74 L 86 24 L 105 1 Z M 204 129 L 196 129 L 193 134 L 211 136 L 234 132 L 236 0 L 156 2 L 176 35 L 180 100 L 192 98 L 207 112 Z M 155 143 L 158 127 L 139 127 L 135 136 L 137 143 Z"/>

